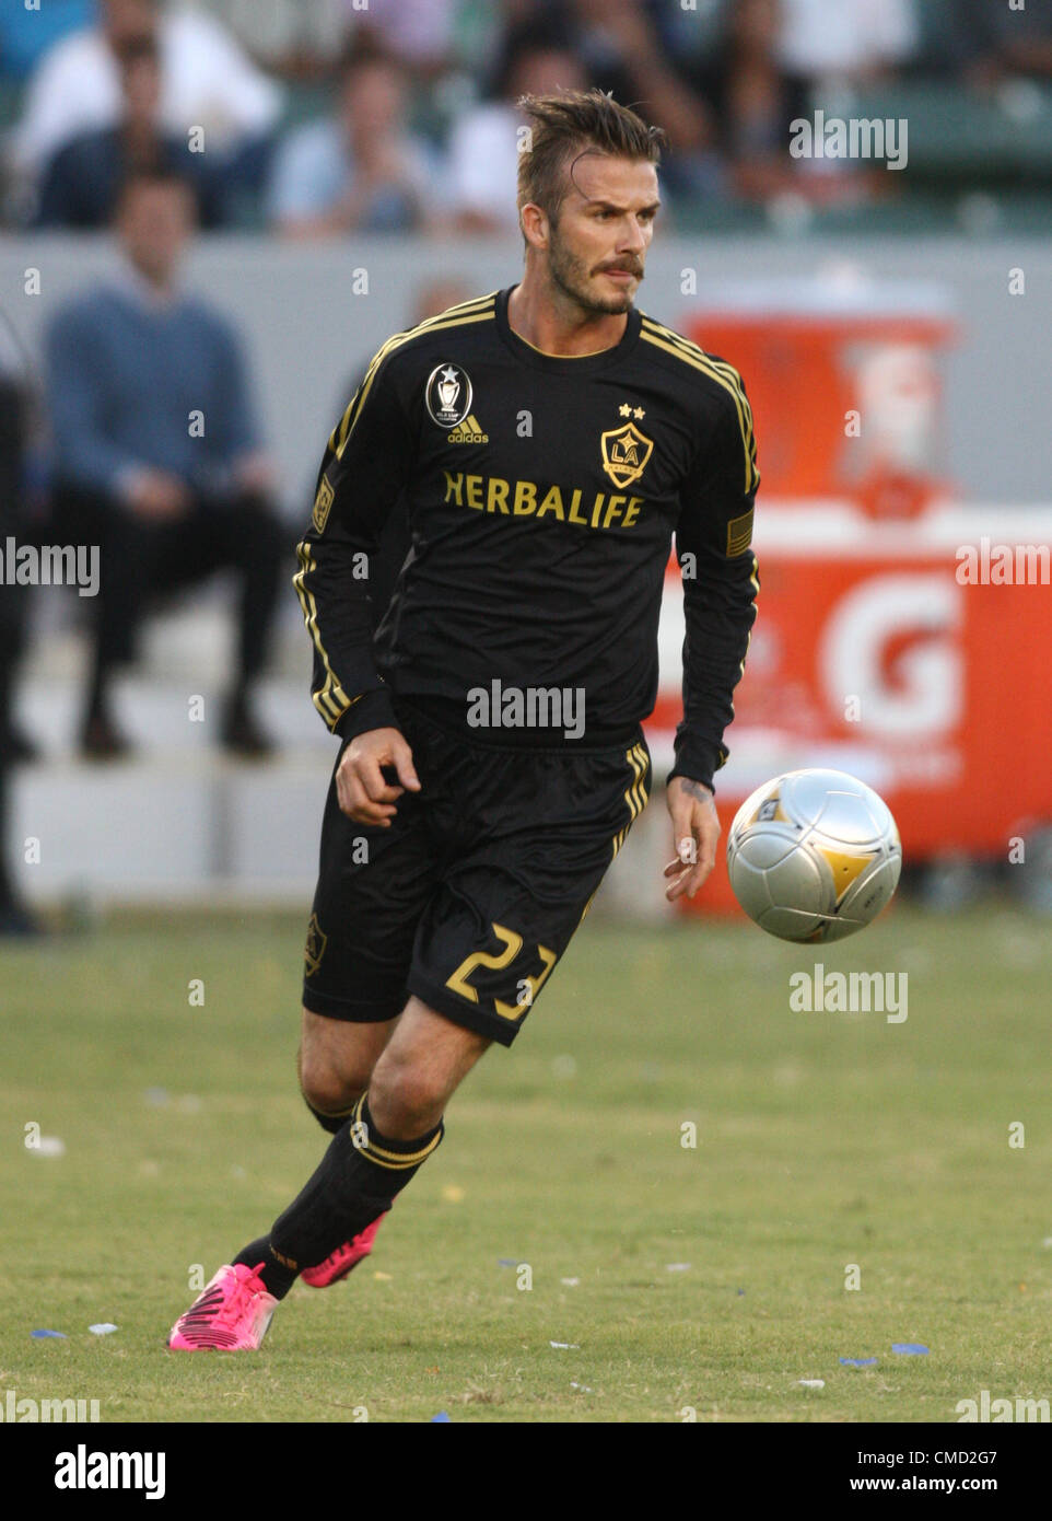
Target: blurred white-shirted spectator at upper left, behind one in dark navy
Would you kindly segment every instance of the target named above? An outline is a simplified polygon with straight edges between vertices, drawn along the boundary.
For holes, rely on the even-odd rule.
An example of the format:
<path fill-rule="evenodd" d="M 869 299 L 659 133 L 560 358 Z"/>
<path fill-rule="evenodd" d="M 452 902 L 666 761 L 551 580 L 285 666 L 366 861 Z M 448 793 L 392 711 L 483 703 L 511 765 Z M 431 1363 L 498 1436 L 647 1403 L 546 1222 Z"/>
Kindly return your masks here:
<path fill-rule="evenodd" d="M 243 178 L 281 113 L 281 88 L 258 71 L 219 23 L 160 0 L 99 0 L 99 24 L 56 43 L 33 73 L 15 163 L 36 176 L 82 132 L 112 128 L 122 114 L 120 55 L 152 40 L 161 59 L 161 120 L 170 132 L 204 134 L 205 152 Z"/>

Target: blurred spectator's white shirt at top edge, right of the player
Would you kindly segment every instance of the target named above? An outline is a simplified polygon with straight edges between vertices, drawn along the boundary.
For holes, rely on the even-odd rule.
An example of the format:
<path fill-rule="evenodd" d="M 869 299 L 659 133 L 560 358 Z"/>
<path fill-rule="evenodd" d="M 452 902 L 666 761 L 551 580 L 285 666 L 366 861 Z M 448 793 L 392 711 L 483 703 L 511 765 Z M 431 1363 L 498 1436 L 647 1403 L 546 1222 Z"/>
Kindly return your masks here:
<path fill-rule="evenodd" d="M 914 0 L 780 0 L 781 67 L 812 85 L 860 84 L 920 44 Z"/>

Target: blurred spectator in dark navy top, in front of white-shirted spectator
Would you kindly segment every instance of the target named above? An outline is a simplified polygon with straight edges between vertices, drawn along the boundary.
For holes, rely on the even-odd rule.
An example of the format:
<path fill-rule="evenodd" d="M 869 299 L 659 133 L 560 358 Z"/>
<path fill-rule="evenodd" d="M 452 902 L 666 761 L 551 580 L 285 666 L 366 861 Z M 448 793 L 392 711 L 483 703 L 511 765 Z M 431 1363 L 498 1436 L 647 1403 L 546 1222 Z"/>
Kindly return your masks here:
<path fill-rule="evenodd" d="M 217 227 L 219 196 L 207 154 L 190 151 L 185 138 L 158 125 L 161 71 L 157 44 L 144 37 L 120 55 L 123 119 L 117 126 L 85 132 L 59 148 L 40 190 L 40 227 L 109 227 L 120 187 L 140 169 L 172 169 L 195 189 L 198 222 Z"/>

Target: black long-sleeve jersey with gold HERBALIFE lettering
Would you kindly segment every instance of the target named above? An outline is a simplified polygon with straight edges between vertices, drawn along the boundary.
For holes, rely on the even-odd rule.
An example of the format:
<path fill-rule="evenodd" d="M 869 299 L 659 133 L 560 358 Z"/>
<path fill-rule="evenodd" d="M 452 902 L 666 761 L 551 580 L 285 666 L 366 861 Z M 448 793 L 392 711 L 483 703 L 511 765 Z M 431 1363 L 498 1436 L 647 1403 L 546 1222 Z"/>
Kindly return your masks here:
<path fill-rule="evenodd" d="M 588 738 L 632 730 L 657 698 L 675 534 L 670 776 L 711 783 L 759 590 L 742 379 L 635 307 L 613 348 L 543 353 L 509 327 L 511 289 L 388 339 L 328 440 L 295 576 L 315 706 L 351 736 L 397 727 L 391 694 L 467 712 L 473 691 L 558 687 L 584 694 Z M 395 503 L 412 546 L 374 637 L 369 557 Z"/>

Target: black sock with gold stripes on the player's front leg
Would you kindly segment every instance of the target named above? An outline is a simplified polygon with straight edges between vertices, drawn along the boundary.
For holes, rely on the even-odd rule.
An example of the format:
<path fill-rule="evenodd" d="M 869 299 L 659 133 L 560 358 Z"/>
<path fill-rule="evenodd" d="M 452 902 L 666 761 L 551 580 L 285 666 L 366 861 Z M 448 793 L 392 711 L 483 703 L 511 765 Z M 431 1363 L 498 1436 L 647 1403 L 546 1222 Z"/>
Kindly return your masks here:
<path fill-rule="evenodd" d="M 271 1252 L 296 1273 L 324 1262 L 391 1209 L 395 1196 L 442 1139 L 441 1119 L 414 1141 L 380 1135 L 366 1097 L 359 1098 L 307 1186 L 271 1229 Z"/>

